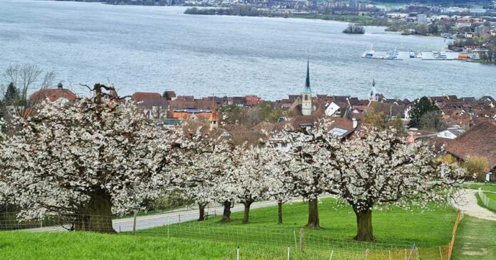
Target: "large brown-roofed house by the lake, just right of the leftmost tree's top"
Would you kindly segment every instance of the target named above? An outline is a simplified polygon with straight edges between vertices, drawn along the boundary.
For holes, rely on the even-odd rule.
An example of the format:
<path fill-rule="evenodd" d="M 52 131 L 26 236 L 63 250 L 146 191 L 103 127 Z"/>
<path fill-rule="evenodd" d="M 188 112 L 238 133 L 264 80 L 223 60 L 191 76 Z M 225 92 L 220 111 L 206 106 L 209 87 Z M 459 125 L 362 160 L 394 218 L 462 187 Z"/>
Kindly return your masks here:
<path fill-rule="evenodd" d="M 136 92 L 131 96 L 148 119 L 165 118 L 168 103 L 159 93 Z"/>

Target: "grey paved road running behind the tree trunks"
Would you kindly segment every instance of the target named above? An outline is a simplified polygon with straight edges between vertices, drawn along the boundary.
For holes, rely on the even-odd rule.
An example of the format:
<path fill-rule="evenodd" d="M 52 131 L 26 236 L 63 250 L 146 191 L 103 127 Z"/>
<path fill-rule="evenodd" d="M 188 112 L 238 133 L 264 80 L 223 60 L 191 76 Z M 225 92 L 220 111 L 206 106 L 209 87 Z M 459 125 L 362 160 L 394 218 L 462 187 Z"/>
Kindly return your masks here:
<path fill-rule="evenodd" d="M 330 197 L 330 196 L 323 196 Z M 302 199 L 292 199 L 292 202 L 301 202 Z M 277 202 L 254 202 L 251 209 L 259 209 L 263 207 L 271 207 L 277 205 Z M 206 209 L 209 215 L 222 214 L 223 207 L 210 207 Z M 243 204 L 235 204 L 231 212 L 242 212 L 244 209 Z M 199 218 L 198 209 L 183 209 L 175 212 L 167 212 L 163 214 L 153 214 L 149 216 L 136 218 L 136 229 L 150 229 L 153 227 L 161 227 L 167 224 L 176 224 L 179 222 L 187 222 Z M 132 232 L 133 231 L 133 217 L 124 219 L 114 219 L 113 228 L 117 232 Z M 67 225 L 68 226 L 68 225 Z M 29 232 L 60 232 L 66 231 L 63 227 L 43 227 L 36 229 L 29 229 Z"/>

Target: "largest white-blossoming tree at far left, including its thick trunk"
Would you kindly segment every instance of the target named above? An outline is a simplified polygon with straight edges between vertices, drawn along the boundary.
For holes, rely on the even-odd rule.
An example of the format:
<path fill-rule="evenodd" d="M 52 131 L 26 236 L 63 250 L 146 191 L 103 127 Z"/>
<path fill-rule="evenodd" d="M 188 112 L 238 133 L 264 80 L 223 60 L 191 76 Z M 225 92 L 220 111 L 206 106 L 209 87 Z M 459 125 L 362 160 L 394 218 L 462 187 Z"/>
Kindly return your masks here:
<path fill-rule="evenodd" d="M 138 209 L 165 184 L 175 132 L 104 92 L 113 88 L 93 90 L 91 98 L 42 103 L 36 115 L 14 118 L 17 131 L 0 143 L 0 180 L 21 217 L 71 214 L 73 229 L 113 232 L 111 214 Z"/>

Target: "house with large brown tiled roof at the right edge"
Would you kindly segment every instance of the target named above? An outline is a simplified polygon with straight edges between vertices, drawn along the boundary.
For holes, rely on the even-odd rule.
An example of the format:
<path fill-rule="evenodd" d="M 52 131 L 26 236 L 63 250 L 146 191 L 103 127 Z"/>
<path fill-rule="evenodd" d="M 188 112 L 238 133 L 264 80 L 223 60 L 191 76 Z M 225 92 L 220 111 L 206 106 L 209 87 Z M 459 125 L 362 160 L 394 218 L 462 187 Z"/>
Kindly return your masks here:
<path fill-rule="evenodd" d="M 467 160 L 472 156 L 485 157 L 488 162 L 486 172 L 496 172 L 495 147 L 496 122 L 485 121 L 450 142 L 446 150 L 460 160 Z"/>

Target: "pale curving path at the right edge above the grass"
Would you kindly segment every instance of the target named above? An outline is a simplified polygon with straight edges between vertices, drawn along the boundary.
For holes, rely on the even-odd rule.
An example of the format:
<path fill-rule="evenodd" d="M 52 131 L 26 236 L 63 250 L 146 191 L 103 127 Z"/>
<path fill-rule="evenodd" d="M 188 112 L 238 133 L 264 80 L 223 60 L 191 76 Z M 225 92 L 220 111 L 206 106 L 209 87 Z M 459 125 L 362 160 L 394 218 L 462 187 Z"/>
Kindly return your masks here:
<path fill-rule="evenodd" d="M 475 197 L 475 193 L 477 193 L 477 189 L 462 189 L 459 192 L 460 199 L 456 199 L 453 201 L 453 206 L 457 209 L 462 210 L 465 214 L 477 217 L 479 219 L 487 219 L 496 221 L 496 214 L 490 212 L 490 210 L 480 207 L 477 204 L 477 197 Z"/>

